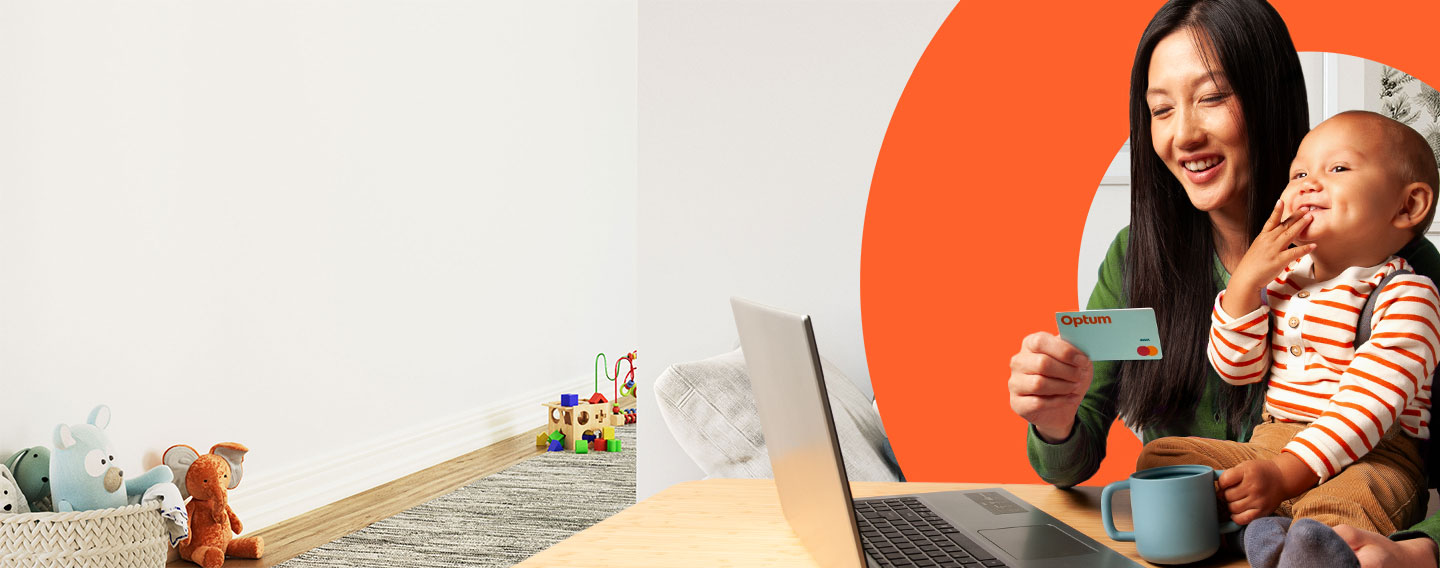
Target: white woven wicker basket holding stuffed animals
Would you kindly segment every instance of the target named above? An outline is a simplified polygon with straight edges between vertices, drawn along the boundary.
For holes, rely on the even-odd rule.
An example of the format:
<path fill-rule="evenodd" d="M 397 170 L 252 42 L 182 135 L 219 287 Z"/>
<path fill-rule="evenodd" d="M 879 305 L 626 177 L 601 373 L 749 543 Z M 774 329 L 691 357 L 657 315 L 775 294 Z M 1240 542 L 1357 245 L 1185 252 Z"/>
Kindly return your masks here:
<path fill-rule="evenodd" d="M 76 513 L 0 515 L 0 567 L 163 568 L 158 502 Z"/>

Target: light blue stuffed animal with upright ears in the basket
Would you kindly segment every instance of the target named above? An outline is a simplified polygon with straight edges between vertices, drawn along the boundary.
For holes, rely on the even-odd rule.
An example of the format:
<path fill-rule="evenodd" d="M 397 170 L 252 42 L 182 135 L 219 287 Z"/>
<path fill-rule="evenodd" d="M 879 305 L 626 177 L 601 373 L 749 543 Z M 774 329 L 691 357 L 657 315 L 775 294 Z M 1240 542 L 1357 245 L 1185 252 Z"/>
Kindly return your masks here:
<path fill-rule="evenodd" d="M 122 507 L 128 496 L 140 496 L 157 483 L 174 480 L 170 467 L 156 466 L 144 476 L 125 482 L 115 467 L 115 450 L 104 430 L 109 407 L 91 411 L 86 424 L 55 427 L 50 456 L 50 496 L 56 512 Z"/>

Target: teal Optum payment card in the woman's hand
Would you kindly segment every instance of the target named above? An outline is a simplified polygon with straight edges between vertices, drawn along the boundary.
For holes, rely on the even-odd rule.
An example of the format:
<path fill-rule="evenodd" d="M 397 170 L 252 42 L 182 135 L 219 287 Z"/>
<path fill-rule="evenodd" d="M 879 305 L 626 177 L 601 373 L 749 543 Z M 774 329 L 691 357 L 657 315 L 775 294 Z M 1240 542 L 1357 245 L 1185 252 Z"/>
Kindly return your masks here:
<path fill-rule="evenodd" d="M 1057 311 L 1060 339 L 1079 347 L 1090 360 L 1161 359 L 1161 334 L 1155 310 Z"/>

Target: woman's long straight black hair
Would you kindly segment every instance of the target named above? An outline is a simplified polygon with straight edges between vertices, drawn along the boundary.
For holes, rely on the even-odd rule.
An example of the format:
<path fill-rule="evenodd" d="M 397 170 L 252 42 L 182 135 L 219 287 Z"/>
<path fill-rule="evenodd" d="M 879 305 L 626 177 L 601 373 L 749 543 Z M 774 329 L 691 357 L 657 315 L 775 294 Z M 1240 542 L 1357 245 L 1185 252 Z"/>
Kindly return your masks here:
<path fill-rule="evenodd" d="M 1125 294 L 1132 307 L 1153 307 L 1161 360 L 1125 362 L 1119 412 L 1132 428 L 1185 428 L 1195 418 L 1208 376 L 1205 345 L 1220 283 L 1215 238 L 1207 212 L 1155 154 L 1149 88 L 1151 53 L 1171 33 L 1191 30 L 1212 74 L 1238 98 L 1248 133 L 1248 241 L 1260 234 L 1284 190 L 1290 160 L 1309 130 L 1300 58 L 1284 20 L 1261 0 L 1172 0 L 1140 36 L 1130 69 L 1130 242 Z M 1264 395 L 1261 383 L 1221 385 L 1214 409 L 1231 432 L 1248 431 Z"/>

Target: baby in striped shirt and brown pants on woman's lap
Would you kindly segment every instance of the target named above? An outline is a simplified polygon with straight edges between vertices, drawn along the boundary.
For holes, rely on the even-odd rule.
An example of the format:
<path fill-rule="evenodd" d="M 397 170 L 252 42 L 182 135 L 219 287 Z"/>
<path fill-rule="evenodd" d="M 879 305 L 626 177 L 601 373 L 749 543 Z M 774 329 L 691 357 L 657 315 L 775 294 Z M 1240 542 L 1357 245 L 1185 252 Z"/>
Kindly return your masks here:
<path fill-rule="evenodd" d="M 1227 470 L 1218 492 L 1241 525 L 1277 512 L 1390 533 L 1417 520 L 1440 296 L 1395 252 L 1430 226 L 1437 177 L 1426 140 L 1382 115 L 1344 112 L 1310 131 L 1211 317 L 1220 376 L 1269 379 L 1261 424 L 1248 443 L 1152 441 L 1139 469 Z M 1358 326 L 1371 329 L 1359 346 Z"/>

